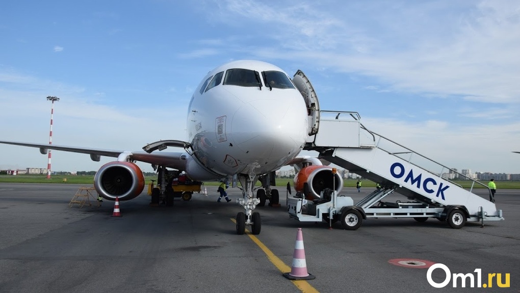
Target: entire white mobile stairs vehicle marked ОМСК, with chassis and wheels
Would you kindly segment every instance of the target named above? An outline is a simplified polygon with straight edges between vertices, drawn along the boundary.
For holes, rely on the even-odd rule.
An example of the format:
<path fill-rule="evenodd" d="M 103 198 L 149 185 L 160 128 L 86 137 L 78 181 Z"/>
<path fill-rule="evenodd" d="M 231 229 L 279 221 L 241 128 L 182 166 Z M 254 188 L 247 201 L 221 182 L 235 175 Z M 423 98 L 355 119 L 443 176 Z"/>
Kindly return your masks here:
<path fill-rule="evenodd" d="M 320 117 L 319 131 L 304 150 L 318 151 L 320 159 L 382 188 L 355 205 L 352 198 L 330 191 L 329 196 L 325 190 L 318 200 L 289 198 L 292 218 L 309 222 L 326 219 L 330 223 L 341 220 L 346 230 L 356 230 L 367 218 L 413 218 L 419 222 L 436 218 L 456 229 L 466 221 L 482 221 L 484 225 L 484 221 L 504 220 L 495 202 L 473 193 L 474 186 L 489 190 L 487 185 L 367 130 L 357 112 L 320 111 Z M 471 187 L 463 188 L 451 181 L 454 178 L 467 180 Z M 407 201 L 383 201 L 390 194 L 402 195 Z"/>

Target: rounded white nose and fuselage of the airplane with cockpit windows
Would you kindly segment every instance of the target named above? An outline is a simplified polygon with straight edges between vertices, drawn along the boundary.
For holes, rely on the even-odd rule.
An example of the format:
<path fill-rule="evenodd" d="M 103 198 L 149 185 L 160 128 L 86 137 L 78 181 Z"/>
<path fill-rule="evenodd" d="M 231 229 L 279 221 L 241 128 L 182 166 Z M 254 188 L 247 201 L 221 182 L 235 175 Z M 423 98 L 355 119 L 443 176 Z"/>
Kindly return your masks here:
<path fill-rule="evenodd" d="M 224 176 L 277 170 L 308 136 L 305 100 L 289 75 L 254 60 L 210 71 L 193 93 L 187 125 L 194 156 Z"/>

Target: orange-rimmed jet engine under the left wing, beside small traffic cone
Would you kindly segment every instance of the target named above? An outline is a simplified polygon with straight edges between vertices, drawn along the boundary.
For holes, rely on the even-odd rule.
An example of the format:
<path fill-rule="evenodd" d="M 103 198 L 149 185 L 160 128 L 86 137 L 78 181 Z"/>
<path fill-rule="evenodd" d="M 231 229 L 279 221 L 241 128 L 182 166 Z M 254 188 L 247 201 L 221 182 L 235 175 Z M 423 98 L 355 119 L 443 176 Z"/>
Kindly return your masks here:
<path fill-rule="evenodd" d="M 94 177 L 94 187 L 108 200 L 133 199 L 145 188 L 145 176 L 141 169 L 131 162 L 110 162 L 104 164 Z"/>

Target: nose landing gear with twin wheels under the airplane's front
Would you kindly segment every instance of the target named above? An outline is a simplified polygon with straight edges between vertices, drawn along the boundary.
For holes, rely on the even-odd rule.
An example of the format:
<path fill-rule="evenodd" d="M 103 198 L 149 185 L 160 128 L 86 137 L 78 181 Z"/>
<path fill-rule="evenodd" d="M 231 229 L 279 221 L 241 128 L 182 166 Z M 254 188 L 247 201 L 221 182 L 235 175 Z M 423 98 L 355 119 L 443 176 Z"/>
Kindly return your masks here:
<path fill-rule="evenodd" d="M 238 200 L 238 203 L 244 207 L 244 212 L 237 214 L 237 234 L 242 235 L 245 233 L 245 226 L 251 226 L 251 233 L 253 235 L 260 234 L 262 228 L 262 220 L 260 213 L 253 212 L 260 200 L 253 198 L 253 187 L 254 182 L 258 180 L 258 175 L 251 174 L 239 174 L 238 180 L 242 185 L 243 198 Z"/>

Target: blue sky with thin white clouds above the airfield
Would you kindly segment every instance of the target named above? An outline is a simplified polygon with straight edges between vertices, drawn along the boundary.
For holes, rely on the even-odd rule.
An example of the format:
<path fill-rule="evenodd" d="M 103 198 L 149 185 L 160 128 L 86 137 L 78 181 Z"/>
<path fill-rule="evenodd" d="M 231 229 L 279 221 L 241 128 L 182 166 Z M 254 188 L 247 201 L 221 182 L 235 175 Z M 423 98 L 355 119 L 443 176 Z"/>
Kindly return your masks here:
<path fill-rule="evenodd" d="M 0 138 L 140 150 L 185 139 L 194 88 L 237 59 L 303 70 L 322 110 L 440 163 L 520 173 L 518 1 L 8 1 Z M 104 159 L 102 162 L 108 162 Z M 0 169 L 45 168 L 0 146 Z M 97 170 L 53 152 L 53 170 Z M 151 171 L 147 164 L 141 164 Z"/>

